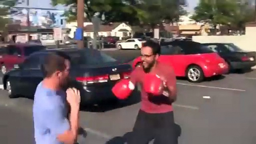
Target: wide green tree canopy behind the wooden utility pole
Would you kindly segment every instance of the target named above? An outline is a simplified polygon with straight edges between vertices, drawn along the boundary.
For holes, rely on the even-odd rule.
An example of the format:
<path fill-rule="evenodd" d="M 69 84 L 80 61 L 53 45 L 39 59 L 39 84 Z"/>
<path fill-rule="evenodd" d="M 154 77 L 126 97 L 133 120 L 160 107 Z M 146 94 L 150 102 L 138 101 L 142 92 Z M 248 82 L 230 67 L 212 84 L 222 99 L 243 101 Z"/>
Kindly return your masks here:
<path fill-rule="evenodd" d="M 70 9 L 65 12 L 68 21 L 77 19 L 77 0 L 51 0 L 53 6 L 65 4 Z M 182 6 L 185 0 L 84 0 L 87 20 L 91 21 L 95 12 L 105 16 L 103 23 L 128 22 L 130 25 L 150 25 L 154 27 L 163 21 L 178 21 L 185 14 Z"/>

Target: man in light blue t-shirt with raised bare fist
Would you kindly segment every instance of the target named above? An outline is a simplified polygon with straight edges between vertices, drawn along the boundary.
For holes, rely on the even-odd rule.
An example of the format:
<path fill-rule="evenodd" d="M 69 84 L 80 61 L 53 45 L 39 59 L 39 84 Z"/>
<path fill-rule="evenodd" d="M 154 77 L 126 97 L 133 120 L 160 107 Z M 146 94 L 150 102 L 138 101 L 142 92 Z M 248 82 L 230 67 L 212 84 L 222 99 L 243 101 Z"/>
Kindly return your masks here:
<path fill-rule="evenodd" d="M 37 86 L 33 105 L 36 144 L 74 144 L 77 139 L 80 93 L 75 88 L 62 90 L 68 83 L 69 68 L 70 57 L 65 53 L 54 52 L 45 58 L 45 78 Z"/>

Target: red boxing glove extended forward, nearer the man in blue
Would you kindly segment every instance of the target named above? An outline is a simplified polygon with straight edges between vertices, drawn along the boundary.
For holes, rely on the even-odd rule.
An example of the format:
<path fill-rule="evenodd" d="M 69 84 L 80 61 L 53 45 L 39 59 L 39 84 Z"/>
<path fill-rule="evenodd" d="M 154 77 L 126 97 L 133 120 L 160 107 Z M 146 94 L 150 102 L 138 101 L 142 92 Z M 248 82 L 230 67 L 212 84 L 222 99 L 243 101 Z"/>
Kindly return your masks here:
<path fill-rule="evenodd" d="M 129 79 L 122 79 L 114 85 L 112 92 L 117 98 L 123 100 L 130 96 L 134 88 L 135 85 Z"/>

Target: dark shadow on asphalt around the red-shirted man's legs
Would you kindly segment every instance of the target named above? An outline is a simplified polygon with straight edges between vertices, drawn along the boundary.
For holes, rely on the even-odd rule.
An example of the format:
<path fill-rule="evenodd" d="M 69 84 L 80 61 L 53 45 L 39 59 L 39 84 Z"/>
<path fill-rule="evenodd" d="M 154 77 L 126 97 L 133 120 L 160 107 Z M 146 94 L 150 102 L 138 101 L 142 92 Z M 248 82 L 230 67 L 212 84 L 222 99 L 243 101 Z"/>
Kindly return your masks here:
<path fill-rule="evenodd" d="M 178 139 L 181 137 L 181 126 L 175 123 L 175 144 L 178 144 Z M 132 137 L 132 132 L 127 132 L 122 137 L 114 137 L 105 144 L 125 144 Z M 153 138 L 152 138 L 153 141 Z M 151 144 L 151 142 L 150 142 Z"/>

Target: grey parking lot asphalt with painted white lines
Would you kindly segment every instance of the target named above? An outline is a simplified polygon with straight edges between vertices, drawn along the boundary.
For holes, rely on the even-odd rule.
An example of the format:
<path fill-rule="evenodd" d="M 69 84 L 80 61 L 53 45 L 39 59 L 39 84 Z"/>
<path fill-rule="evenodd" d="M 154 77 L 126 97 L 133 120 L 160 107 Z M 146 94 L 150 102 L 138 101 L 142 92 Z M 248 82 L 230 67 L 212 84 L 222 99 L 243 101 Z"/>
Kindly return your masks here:
<path fill-rule="evenodd" d="M 128 60 L 140 51 L 105 53 Z M 199 84 L 178 79 L 174 113 L 181 127 L 179 144 L 255 144 L 255 85 L 256 71 L 231 73 Z M 139 99 L 134 94 L 126 101 L 83 108 L 80 125 L 86 134 L 79 137 L 80 143 L 121 144 L 121 137 L 134 125 Z M 0 91 L 1 143 L 32 143 L 32 103 L 26 98 L 9 99 L 6 91 Z"/>

